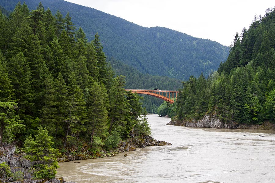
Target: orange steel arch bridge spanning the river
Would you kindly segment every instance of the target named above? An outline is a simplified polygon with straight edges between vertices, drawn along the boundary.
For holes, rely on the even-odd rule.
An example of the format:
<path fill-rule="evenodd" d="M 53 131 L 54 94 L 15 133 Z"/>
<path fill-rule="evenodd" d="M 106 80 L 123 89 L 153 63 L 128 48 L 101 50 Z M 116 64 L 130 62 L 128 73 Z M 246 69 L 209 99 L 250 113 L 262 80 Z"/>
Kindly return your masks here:
<path fill-rule="evenodd" d="M 145 95 L 152 95 L 157 98 L 163 99 L 171 104 L 174 103 L 174 98 L 177 98 L 178 91 L 171 91 L 171 90 L 143 90 L 143 89 L 125 89 L 125 91 L 131 91 L 133 93 L 145 94 Z"/>

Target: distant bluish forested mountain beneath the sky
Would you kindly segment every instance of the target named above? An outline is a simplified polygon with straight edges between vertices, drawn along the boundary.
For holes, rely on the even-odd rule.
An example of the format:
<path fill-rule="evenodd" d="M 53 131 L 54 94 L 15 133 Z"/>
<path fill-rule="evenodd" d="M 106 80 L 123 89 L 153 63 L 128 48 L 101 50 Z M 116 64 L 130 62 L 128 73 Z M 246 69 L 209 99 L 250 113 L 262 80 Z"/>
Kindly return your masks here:
<path fill-rule="evenodd" d="M 0 5 L 12 11 L 18 0 L 2 0 Z M 199 39 L 175 30 L 146 28 L 99 10 L 63 0 L 21 0 L 29 9 L 42 2 L 55 13 L 68 12 L 76 27 L 82 27 L 89 40 L 100 35 L 105 54 L 121 60 L 141 73 L 187 80 L 217 70 L 227 59 L 229 48 L 215 41 Z"/>

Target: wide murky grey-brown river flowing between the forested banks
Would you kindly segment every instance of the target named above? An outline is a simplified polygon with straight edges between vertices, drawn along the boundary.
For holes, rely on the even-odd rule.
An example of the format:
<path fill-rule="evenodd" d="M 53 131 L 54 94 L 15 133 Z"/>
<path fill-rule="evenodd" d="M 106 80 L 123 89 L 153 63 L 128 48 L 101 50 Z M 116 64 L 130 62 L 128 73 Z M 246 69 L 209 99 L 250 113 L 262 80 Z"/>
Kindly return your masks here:
<path fill-rule="evenodd" d="M 170 120 L 148 115 L 152 137 L 171 146 L 59 163 L 56 177 L 77 183 L 275 182 L 275 131 L 166 125 Z"/>

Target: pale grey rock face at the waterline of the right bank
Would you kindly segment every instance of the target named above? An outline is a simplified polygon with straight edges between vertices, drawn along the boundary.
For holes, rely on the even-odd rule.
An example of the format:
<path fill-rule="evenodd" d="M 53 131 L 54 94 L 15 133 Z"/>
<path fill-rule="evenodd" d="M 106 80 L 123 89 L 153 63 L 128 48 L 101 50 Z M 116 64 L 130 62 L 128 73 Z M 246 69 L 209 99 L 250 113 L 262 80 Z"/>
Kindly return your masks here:
<path fill-rule="evenodd" d="M 236 128 L 237 123 L 230 121 L 228 123 L 222 122 L 215 114 L 204 115 L 199 120 L 185 120 L 185 121 L 170 121 L 167 125 L 178 125 L 185 127 L 200 127 L 200 128 Z"/>

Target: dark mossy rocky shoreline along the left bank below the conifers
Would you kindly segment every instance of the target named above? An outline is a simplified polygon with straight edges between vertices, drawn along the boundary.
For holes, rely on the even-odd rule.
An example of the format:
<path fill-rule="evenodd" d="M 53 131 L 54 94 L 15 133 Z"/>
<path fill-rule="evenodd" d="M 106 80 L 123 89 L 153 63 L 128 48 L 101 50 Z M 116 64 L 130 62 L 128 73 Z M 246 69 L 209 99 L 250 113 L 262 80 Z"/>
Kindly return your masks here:
<path fill-rule="evenodd" d="M 60 158 L 59 162 L 72 161 L 72 160 L 86 160 L 92 158 L 99 158 L 105 156 L 115 156 L 117 153 L 135 151 L 137 147 L 154 146 L 154 145 L 171 145 L 169 142 L 158 141 L 150 136 L 145 136 L 143 138 L 130 138 L 127 141 L 121 141 L 118 147 L 111 152 L 87 152 L 88 148 L 83 146 L 79 153 L 72 153 L 74 149 L 71 149 L 64 153 Z M 0 163 L 6 162 L 10 167 L 11 173 L 20 172 L 20 178 L 9 177 L 2 169 L 0 170 L 0 183 L 75 183 L 66 182 L 63 178 L 53 178 L 53 179 L 33 179 L 33 172 L 31 167 L 35 162 L 31 162 L 24 158 L 24 153 L 15 153 L 16 147 L 14 145 L 6 145 L 0 147 Z M 18 180 L 19 179 L 19 180 Z"/>

